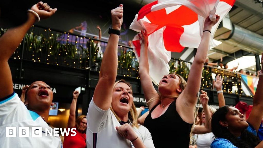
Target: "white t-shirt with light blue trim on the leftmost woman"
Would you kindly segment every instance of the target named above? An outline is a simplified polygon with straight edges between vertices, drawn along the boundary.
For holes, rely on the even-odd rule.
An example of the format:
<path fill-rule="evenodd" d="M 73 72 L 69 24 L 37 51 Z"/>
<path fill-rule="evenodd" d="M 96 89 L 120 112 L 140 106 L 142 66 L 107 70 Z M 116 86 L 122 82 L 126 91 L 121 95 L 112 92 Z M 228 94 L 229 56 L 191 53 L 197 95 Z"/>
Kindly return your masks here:
<path fill-rule="evenodd" d="M 6 127 L 16 127 L 16 137 L 6 137 Z M 18 127 L 29 127 L 29 137 L 19 137 Z M 31 127 L 42 127 L 42 137 L 32 137 Z M 27 110 L 16 93 L 0 100 L 0 147 L 62 148 L 59 136 L 45 136 L 50 127 L 36 112 Z"/>

